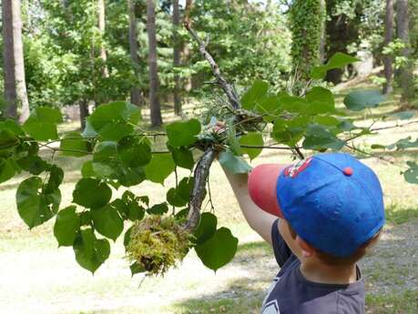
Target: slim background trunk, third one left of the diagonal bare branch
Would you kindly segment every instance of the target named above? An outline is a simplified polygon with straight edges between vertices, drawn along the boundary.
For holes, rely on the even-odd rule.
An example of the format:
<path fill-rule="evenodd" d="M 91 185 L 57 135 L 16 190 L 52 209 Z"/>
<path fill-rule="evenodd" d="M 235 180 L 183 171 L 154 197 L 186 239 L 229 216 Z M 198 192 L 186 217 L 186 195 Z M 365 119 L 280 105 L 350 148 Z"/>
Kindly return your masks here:
<path fill-rule="evenodd" d="M 138 41 L 137 41 L 137 16 L 135 15 L 135 5 L 132 0 L 127 0 L 127 9 L 129 10 L 129 51 L 130 60 L 134 67 L 135 78 L 139 78 L 139 58 L 138 58 Z M 130 102 L 134 105 L 141 106 L 142 96 L 137 84 L 131 87 Z"/>

